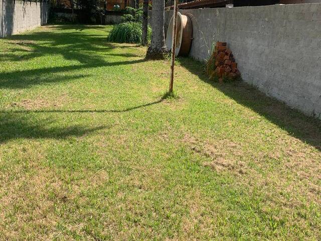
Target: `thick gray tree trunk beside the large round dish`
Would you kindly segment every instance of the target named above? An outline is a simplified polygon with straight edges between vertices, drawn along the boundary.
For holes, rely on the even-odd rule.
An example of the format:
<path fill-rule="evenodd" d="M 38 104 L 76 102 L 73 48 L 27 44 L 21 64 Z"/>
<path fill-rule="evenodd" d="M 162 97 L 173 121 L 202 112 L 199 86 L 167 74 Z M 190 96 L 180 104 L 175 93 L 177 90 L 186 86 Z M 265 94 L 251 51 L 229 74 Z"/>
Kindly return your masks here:
<path fill-rule="evenodd" d="M 165 0 L 153 0 L 151 15 L 151 42 L 147 49 L 147 59 L 165 59 L 169 51 L 165 45 L 164 33 Z"/>

